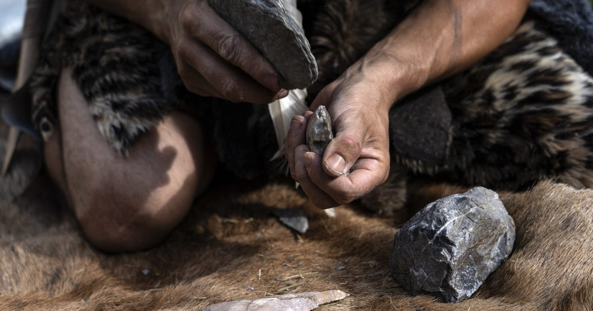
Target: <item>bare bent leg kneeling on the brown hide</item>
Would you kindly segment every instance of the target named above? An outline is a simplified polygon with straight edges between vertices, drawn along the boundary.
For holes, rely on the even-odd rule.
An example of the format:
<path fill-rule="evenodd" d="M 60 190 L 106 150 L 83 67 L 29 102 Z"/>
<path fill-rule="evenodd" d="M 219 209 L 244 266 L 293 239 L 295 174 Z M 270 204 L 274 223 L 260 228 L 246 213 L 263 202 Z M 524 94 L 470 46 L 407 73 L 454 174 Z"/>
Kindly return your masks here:
<path fill-rule="evenodd" d="M 164 117 L 124 157 L 109 146 L 65 70 L 58 86 L 59 133 L 45 146 L 48 171 L 88 240 L 104 251 L 154 246 L 186 215 L 212 175 L 199 123 Z"/>

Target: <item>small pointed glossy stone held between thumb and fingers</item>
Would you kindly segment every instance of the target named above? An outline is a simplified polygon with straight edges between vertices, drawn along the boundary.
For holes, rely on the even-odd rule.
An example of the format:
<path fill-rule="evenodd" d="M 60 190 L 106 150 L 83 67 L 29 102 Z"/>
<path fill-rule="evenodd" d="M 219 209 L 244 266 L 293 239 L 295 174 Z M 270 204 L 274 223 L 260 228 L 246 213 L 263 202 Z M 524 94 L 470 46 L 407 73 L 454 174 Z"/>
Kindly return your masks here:
<path fill-rule="evenodd" d="M 330 113 L 327 112 L 326 106 L 321 105 L 307 123 L 307 146 L 312 152 L 323 156 L 333 137 Z"/>

